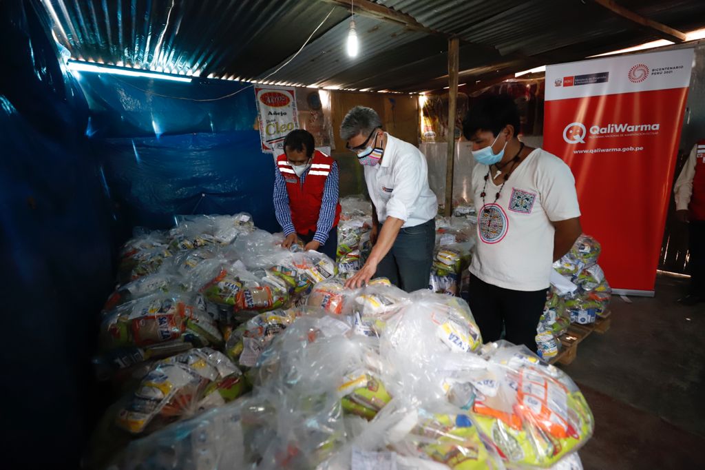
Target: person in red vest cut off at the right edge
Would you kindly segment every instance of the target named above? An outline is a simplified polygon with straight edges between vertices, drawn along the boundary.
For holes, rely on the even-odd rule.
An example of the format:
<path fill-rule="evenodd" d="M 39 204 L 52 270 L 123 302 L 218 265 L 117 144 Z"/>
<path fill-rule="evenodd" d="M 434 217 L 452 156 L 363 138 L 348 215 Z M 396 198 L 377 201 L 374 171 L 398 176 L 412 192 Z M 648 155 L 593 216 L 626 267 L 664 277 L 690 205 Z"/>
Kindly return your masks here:
<path fill-rule="evenodd" d="M 705 139 L 693 146 L 673 187 L 675 215 L 688 224 L 690 290 L 683 305 L 705 301 Z"/>

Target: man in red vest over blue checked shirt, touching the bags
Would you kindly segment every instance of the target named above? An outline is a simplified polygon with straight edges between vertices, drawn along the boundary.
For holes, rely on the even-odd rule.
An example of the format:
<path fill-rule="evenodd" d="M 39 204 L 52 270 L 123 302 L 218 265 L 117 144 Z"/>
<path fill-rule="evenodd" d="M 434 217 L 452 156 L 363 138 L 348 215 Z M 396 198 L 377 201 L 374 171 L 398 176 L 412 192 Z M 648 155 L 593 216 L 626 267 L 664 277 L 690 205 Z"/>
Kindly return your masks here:
<path fill-rule="evenodd" d="M 276 157 L 274 212 L 286 235 L 284 248 L 300 237 L 306 250 L 336 259 L 338 249 L 338 164 L 314 148 L 314 138 L 303 129 L 291 131 L 284 153 Z"/>

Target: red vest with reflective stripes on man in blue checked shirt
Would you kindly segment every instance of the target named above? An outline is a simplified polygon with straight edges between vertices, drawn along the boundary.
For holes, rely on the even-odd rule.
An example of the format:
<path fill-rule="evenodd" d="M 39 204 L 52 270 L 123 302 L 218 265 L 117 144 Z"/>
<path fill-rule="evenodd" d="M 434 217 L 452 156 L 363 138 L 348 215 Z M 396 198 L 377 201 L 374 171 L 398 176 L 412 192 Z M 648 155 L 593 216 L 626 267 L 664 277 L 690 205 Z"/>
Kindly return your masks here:
<path fill-rule="evenodd" d="M 333 169 L 333 159 L 323 152 L 314 151 L 311 167 L 305 174 L 304 183 L 294 173 L 294 169 L 286 159 L 286 154 L 276 157 L 276 164 L 281 171 L 281 176 L 286 181 L 286 191 L 289 193 L 289 207 L 291 209 L 291 222 L 294 229 L 302 235 L 309 231 L 316 231 L 318 216 L 323 203 L 323 190 L 326 178 Z M 341 203 L 336 205 L 336 218 L 333 227 L 341 219 Z M 332 227 L 331 227 L 332 228 Z"/>

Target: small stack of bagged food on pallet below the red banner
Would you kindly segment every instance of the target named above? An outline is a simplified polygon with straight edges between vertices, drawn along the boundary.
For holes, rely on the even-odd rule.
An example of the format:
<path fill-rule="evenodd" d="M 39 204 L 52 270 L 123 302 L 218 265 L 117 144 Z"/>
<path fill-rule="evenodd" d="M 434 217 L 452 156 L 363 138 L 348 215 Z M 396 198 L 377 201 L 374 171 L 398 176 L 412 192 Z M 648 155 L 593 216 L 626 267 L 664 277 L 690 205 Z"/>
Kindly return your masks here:
<path fill-rule="evenodd" d="M 551 358 L 560 349 L 560 335 L 570 323 L 587 325 L 607 311 L 612 289 L 597 264 L 600 243 L 581 235 L 570 251 L 553 263 L 551 289 L 537 328 L 539 355 Z"/>

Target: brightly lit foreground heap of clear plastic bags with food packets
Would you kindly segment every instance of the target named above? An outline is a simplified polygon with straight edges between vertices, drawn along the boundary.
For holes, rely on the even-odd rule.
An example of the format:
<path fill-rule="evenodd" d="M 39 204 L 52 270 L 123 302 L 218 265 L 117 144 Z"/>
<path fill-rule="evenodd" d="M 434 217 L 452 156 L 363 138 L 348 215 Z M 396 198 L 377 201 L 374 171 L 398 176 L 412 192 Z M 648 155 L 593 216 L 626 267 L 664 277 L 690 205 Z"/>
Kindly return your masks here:
<path fill-rule="evenodd" d="M 252 392 L 131 442 L 111 468 L 582 468 L 594 423 L 575 383 L 524 347 L 483 345 L 461 299 L 332 278 L 231 338 Z M 219 360 L 183 375 L 205 388 L 239 377 Z"/>

